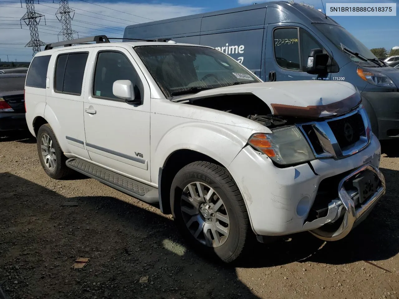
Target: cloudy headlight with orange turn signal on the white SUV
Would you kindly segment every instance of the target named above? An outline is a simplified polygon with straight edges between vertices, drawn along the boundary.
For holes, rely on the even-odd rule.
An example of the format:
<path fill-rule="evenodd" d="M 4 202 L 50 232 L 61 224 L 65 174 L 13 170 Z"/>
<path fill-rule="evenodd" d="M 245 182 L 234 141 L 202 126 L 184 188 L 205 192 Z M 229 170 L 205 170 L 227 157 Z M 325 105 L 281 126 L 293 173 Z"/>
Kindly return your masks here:
<path fill-rule="evenodd" d="M 315 159 L 308 142 L 296 126 L 276 129 L 270 134 L 253 134 L 248 143 L 280 165 Z"/>

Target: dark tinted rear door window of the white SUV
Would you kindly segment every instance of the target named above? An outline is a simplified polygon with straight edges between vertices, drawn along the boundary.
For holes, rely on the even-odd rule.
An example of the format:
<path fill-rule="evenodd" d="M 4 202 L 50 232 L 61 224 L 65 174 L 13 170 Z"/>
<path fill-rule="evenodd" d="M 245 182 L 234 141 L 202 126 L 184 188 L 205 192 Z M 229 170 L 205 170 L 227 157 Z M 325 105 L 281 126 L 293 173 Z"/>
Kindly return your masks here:
<path fill-rule="evenodd" d="M 55 92 L 81 95 L 88 56 L 89 53 L 69 53 L 57 57 L 54 76 Z"/>

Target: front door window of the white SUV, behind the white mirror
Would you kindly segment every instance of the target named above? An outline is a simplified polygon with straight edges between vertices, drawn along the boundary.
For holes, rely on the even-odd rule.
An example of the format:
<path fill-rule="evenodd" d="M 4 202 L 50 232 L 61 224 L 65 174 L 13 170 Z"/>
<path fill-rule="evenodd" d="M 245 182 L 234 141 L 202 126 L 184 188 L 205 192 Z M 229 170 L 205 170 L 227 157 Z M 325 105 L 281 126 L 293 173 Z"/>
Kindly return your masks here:
<path fill-rule="evenodd" d="M 112 87 L 117 80 L 129 80 L 142 92 L 142 83 L 134 67 L 125 55 L 119 52 L 99 52 L 93 80 L 93 96 L 122 100 L 113 94 Z"/>

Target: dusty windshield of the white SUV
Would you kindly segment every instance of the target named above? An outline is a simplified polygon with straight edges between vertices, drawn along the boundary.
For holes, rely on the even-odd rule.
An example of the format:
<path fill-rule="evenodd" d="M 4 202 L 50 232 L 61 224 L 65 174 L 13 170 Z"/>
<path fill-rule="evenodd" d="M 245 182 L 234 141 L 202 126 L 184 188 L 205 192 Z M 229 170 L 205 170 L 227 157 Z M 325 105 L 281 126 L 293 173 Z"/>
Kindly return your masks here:
<path fill-rule="evenodd" d="M 161 45 L 134 50 L 167 98 L 259 81 L 235 60 L 205 47 Z"/>

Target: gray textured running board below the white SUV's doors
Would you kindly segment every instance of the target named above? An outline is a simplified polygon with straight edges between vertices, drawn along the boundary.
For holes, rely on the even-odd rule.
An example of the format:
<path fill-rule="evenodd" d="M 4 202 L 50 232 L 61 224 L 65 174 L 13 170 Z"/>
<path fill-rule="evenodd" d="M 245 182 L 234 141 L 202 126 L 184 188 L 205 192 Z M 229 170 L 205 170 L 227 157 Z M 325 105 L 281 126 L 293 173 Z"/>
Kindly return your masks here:
<path fill-rule="evenodd" d="M 117 174 L 111 170 L 78 158 L 70 158 L 67 160 L 66 164 L 73 170 L 83 173 L 88 177 L 96 179 L 132 197 L 145 201 L 146 203 L 159 203 L 157 188 L 129 179 L 124 175 Z"/>

